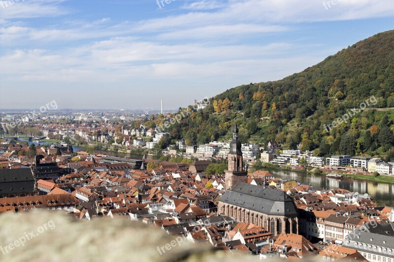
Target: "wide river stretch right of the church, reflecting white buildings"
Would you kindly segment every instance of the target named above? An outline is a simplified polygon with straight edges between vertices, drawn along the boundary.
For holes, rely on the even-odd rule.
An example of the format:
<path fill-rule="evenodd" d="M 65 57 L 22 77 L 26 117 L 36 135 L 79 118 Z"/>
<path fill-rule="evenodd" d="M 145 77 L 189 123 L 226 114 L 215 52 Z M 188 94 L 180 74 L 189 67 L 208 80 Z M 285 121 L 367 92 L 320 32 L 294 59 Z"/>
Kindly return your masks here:
<path fill-rule="evenodd" d="M 367 181 L 344 177 L 343 179 L 327 178 L 325 175 L 311 175 L 303 172 L 292 172 L 282 170 L 265 169 L 275 177 L 282 179 L 291 178 L 299 183 L 310 184 L 316 189 L 342 188 L 360 194 L 369 194 L 379 204 L 394 206 L 394 184 Z"/>

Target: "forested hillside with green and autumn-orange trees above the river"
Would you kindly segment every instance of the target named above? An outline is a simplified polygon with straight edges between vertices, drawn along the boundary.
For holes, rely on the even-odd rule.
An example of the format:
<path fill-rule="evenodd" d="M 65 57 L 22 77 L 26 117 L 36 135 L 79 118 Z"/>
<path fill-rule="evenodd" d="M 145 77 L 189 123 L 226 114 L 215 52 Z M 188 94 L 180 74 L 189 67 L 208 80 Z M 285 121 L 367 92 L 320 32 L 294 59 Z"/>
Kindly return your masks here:
<path fill-rule="evenodd" d="M 376 105 L 325 128 L 366 99 Z M 372 101 L 372 100 L 371 100 Z M 394 30 L 362 40 L 283 80 L 231 88 L 170 127 L 171 139 L 187 144 L 230 139 L 240 127 L 243 143 L 315 150 L 316 155 L 369 154 L 394 157 Z M 373 109 L 377 108 L 377 110 Z M 190 109 L 189 109 L 190 110 Z M 327 130 L 329 132 L 327 132 Z"/>

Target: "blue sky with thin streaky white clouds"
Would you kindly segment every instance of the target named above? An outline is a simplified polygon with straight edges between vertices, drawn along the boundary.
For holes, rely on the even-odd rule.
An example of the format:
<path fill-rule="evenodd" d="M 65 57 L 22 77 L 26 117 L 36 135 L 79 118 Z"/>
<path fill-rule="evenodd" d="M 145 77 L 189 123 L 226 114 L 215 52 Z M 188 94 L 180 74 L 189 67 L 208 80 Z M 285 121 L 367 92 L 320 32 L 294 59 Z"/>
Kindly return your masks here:
<path fill-rule="evenodd" d="M 0 108 L 178 108 L 394 27 L 392 0 L 333 1 L 0 0 Z"/>

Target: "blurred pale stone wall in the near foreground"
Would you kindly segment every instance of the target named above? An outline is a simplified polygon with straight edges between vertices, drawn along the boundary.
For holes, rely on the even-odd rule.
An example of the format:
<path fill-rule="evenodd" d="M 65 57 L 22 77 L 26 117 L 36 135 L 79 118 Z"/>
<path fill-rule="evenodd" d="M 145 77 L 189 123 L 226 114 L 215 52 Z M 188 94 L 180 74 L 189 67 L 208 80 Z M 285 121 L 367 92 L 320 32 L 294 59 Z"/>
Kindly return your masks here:
<path fill-rule="evenodd" d="M 63 211 L 0 215 L 0 261 L 249 262 L 259 258 L 174 239 L 153 226 L 125 219 L 77 221 Z"/>

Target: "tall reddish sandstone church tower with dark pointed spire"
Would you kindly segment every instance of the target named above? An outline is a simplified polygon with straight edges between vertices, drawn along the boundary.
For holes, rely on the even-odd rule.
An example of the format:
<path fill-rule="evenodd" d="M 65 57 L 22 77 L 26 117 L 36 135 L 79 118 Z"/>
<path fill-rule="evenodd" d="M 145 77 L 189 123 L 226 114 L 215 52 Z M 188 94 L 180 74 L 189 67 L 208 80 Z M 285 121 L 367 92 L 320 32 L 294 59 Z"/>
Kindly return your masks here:
<path fill-rule="evenodd" d="M 231 189 L 239 182 L 248 182 L 248 172 L 243 168 L 241 146 L 241 142 L 238 139 L 238 127 L 235 124 L 232 129 L 229 166 L 228 170 L 225 171 L 226 190 Z"/>

